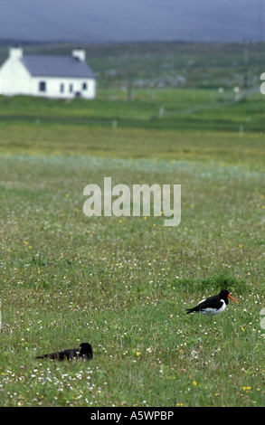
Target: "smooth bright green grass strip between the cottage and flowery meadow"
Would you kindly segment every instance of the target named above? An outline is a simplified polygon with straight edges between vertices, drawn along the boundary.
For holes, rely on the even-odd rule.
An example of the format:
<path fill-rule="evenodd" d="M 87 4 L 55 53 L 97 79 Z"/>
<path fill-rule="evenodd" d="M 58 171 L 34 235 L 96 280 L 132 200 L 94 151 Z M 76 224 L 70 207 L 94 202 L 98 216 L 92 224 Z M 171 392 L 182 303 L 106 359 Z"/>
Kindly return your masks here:
<path fill-rule="evenodd" d="M 257 88 L 247 99 L 235 101 L 232 90 L 219 97 L 215 90 L 134 90 L 128 101 L 124 91 L 99 90 L 98 99 L 32 99 L 0 97 L 0 128 L 10 124 L 225 131 L 240 134 L 265 132 L 264 98 Z M 162 110 L 162 112 L 161 112 Z"/>

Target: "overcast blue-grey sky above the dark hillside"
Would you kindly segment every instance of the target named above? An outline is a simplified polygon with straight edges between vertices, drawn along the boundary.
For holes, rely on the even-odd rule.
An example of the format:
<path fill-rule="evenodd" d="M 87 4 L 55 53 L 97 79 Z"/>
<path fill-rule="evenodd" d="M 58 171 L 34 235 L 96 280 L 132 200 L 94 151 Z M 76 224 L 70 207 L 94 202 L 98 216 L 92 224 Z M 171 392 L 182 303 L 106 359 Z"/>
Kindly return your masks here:
<path fill-rule="evenodd" d="M 264 41 L 265 0 L 0 0 L 0 39 L 241 42 L 260 35 Z"/>

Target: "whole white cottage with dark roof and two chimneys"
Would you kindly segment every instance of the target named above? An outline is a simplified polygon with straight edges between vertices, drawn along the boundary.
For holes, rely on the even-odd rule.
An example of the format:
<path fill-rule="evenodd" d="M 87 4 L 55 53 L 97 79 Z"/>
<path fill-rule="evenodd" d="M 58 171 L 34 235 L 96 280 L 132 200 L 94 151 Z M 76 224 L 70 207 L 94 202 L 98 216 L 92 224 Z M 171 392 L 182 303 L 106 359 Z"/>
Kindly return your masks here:
<path fill-rule="evenodd" d="M 13 47 L 0 68 L 0 94 L 54 99 L 96 97 L 97 80 L 86 62 L 84 50 L 70 56 L 24 54 Z"/>

